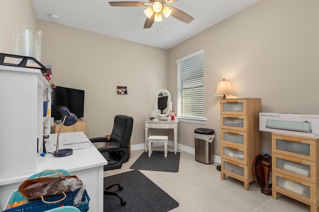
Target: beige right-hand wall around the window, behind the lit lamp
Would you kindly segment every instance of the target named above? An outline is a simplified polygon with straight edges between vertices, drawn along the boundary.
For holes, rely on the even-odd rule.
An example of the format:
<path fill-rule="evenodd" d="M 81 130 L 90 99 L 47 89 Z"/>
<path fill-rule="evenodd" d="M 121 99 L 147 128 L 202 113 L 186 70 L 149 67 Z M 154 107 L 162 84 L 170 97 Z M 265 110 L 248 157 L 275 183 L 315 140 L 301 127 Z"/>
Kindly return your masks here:
<path fill-rule="evenodd" d="M 168 51 L 168 89 L 176 103 L 176 59 L 204 50 L 207 123 L 180 122 L 179 143 L 194 147 L 197 127 L 215 129 L 220 156 L 217 82 L 231 80 L 235 97 L 262 99 L 263 112 L 319 114 L 318 0 L 260 0 Z M 263 151 L 271 151 L 263 133 Z"/>

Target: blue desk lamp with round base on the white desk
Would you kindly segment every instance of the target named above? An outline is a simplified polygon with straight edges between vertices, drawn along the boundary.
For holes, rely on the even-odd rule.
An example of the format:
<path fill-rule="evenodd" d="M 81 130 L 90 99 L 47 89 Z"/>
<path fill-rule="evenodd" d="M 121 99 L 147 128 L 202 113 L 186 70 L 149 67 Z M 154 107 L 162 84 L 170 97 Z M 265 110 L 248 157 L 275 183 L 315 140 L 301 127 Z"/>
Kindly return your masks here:
<path fill-rule="evenodd" d="M 73 149 L 59 149 L 59 135 L 63 125 L 72 126 L 78 120 L 78 117 L 76 117 L 76 115 L 70 112 L 66 107 L 62 107 L 60 112 L 62 114 L 62 124 L 56 138 L 56 150 L 54 152 L 54 157 L 65 157 L 73 154 Z"/>

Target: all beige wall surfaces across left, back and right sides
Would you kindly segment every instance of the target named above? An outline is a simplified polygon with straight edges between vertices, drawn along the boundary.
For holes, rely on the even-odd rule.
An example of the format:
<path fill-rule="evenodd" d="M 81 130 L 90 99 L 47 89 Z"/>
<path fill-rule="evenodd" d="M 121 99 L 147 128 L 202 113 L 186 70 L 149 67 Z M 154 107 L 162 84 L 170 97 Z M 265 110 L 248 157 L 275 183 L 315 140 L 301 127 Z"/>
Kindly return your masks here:
<path fill-rule="evenodd" d="M 35 25 L 31 0 L 0 3 L 0 52 L 11 52 L 13 25 L 42 30 L 41 62 L 52 65 L 53 82 L 86 92 L 89 137 L 109 133 L 114 115 L 125 113 L 135 121 L 132 144 L 143 143 L 156 91 L 168 89 L 176 109 L 176 59 L 200 49 L 207 123 L 180 122 L 179 143 L 194 147 L 193 130 L 213 128 L 220 155 L 214 93 L 222 79 L 232 81 L 236 97 L 262 98 L 263 112 L 319 114 L 318 0 L 260 0 L 168 51 L 42 20 Z M 118 85 L 129 94 L 117 95 Z M 270 133 L 263 141 L 269 152 Z"/>

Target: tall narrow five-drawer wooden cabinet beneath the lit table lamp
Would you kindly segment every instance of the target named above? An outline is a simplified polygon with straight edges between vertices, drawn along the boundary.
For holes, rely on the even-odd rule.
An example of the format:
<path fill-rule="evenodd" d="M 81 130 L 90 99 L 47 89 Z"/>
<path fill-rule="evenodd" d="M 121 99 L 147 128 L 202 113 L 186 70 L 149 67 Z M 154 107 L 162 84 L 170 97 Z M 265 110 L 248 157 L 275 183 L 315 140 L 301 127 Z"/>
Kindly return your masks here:
<path fill-rule="evenodd" d="M 255 156 L 261 153 L 259 131 L 261 99 L 240 98 L 220 101 L 221 179 L 226 174 L 244 182 L 254 181 Z"/>

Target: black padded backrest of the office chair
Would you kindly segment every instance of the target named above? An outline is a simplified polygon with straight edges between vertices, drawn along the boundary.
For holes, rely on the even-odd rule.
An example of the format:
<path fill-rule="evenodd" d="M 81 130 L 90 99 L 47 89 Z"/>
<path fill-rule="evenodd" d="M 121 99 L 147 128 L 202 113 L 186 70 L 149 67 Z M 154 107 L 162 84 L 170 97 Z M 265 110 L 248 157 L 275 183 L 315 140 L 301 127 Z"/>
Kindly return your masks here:
<path fill-rule="evenodd" d="M 119 146 L 129 148 L 133 130 L 133 118 L 127 115 L 116 115 L 110 140 Z"/>

